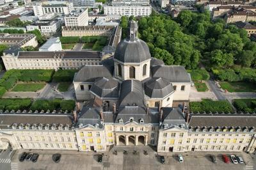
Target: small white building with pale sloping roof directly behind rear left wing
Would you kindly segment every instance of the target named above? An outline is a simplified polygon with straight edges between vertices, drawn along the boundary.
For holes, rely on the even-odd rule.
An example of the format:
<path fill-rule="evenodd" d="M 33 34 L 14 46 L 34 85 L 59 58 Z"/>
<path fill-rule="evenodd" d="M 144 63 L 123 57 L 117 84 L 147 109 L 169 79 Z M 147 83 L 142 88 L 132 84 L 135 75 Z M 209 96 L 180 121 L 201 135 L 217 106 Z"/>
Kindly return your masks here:
<path fill-rule="evenodd" d="M 61 51 L 61 42 L 59 37 L 52 37 L 39 48 L 39 51 Z"/>

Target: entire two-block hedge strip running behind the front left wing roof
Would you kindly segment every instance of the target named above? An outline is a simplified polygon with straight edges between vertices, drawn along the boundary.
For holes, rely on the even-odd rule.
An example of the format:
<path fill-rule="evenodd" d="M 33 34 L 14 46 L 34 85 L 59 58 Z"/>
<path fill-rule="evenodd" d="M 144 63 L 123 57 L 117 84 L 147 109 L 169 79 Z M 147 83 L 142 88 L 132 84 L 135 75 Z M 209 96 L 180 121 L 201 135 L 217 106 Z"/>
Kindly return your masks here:
<path fill-rule="evenodd" d="M 71 112 L 74 110 L 75 101 L 74 100 L 61 100 L 61 99 L 52 99 L 52 100 L 31 100 L 30 98 L 25 99 L 6 99 L 0 98 L 0 109 L 5 111 L 68 111 Z"/>

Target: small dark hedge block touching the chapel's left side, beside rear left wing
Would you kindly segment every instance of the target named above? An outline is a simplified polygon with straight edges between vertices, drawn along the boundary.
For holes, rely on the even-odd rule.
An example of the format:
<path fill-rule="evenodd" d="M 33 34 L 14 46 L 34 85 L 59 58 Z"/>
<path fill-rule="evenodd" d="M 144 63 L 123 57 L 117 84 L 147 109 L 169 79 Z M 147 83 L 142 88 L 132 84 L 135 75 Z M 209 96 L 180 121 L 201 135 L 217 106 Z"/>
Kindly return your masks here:
<path fill-rule="evenodd" d="M 72 82 L 74 75 L 78 70 L 58 70 L 52 76 L 52 81 L 55 82 Z"/>

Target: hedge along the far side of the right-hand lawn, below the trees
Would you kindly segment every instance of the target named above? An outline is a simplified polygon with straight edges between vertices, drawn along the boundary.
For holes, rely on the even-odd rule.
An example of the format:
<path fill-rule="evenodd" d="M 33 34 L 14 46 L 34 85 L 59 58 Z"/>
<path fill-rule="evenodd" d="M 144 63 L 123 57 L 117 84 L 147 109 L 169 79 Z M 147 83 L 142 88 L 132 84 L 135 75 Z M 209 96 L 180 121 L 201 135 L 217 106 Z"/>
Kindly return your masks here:
<path fill-rule="evenodd" d="M 256 69 L 253 68 L 212 69 L 212 73 L 220 81 L 256 82 Z"/>

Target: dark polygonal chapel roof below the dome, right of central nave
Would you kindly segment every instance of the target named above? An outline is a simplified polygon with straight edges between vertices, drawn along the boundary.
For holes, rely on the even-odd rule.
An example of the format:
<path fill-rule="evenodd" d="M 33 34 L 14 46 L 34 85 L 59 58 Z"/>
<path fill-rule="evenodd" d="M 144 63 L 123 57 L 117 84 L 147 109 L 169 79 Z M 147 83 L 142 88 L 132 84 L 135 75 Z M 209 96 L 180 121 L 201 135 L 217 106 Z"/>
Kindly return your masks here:
<path fill-rule="evenodd" d="M 145 83 L 145 94 L 150 98 L 164 98 L 173 93 L 170 82 L 163 78 L 153 78 Z"/>

